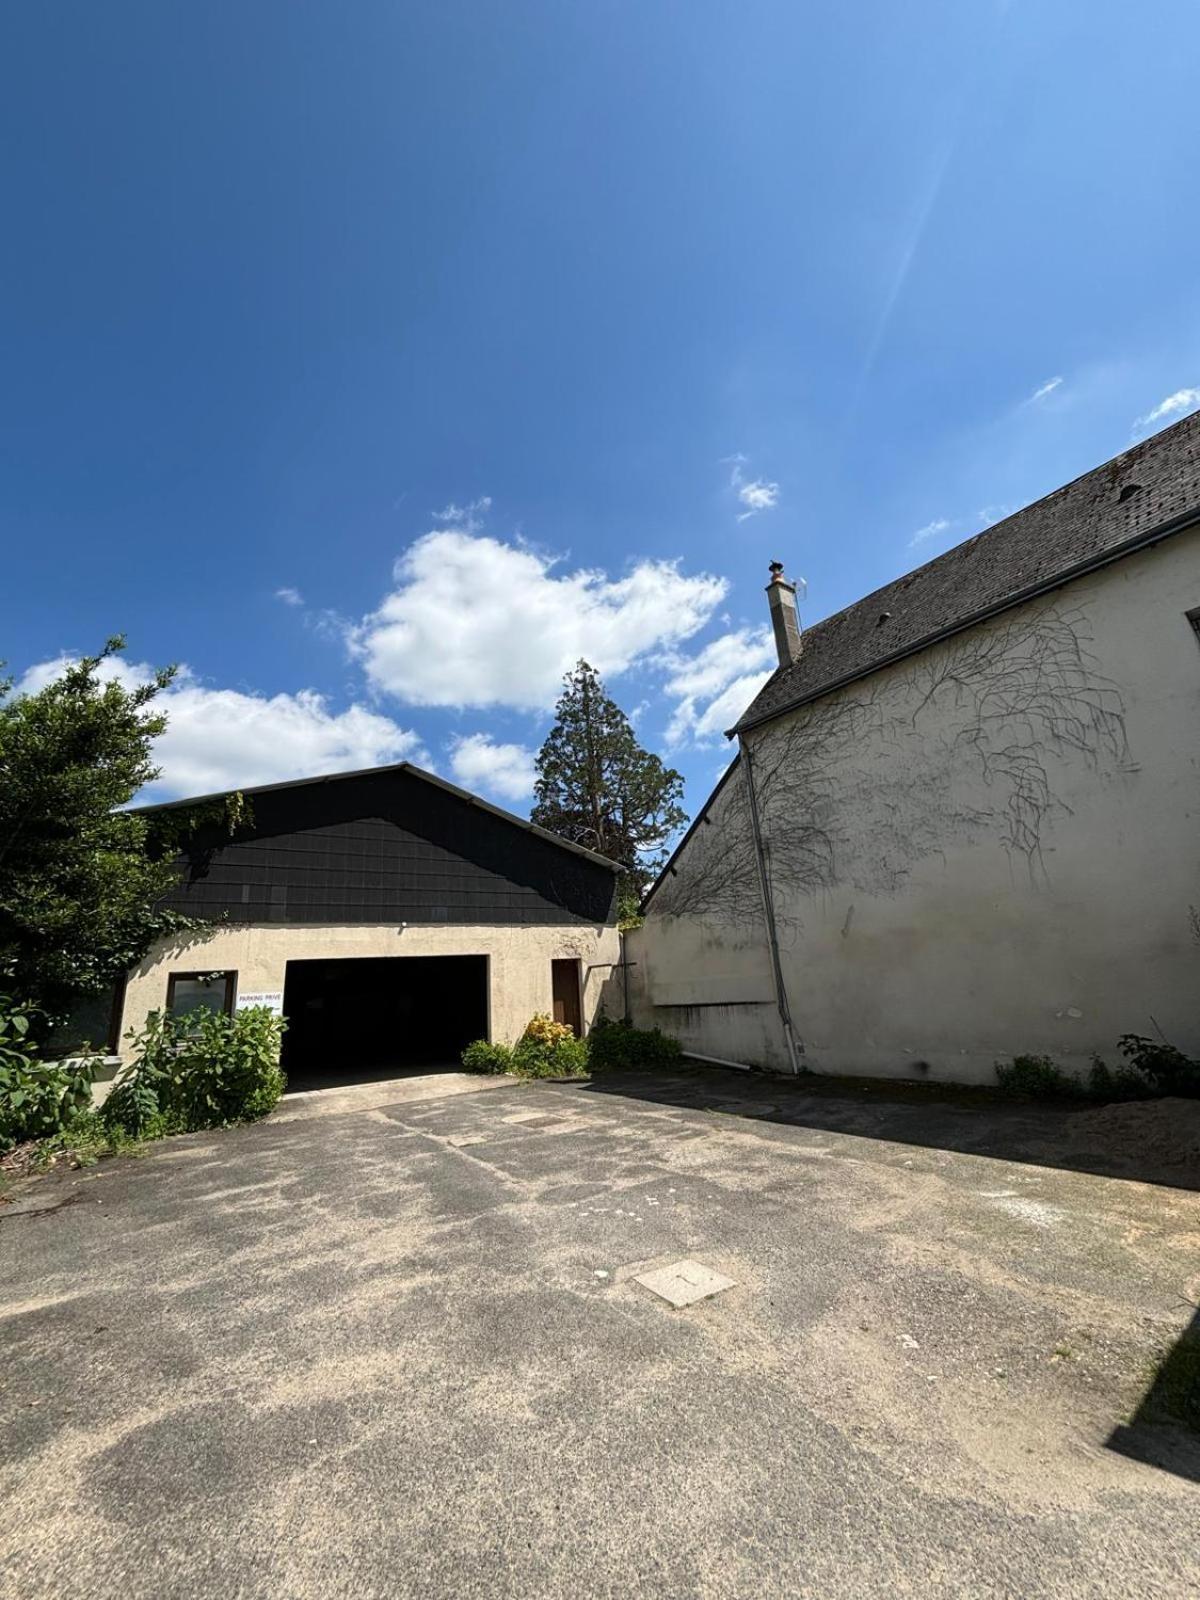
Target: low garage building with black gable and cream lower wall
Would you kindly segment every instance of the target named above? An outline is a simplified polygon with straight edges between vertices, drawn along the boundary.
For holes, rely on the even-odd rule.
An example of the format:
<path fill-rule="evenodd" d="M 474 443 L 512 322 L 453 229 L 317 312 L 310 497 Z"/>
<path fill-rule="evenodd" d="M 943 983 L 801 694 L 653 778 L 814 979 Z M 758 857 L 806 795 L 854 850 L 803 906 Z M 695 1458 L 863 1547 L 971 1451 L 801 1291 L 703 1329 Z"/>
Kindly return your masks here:
<path fill-rule="evenodd" d="M 587 1030 L 621 958 L 611 861 L 408 763 L 243 795 L 232 832 L 218 805 L 189 834 L 168 904 L 208 926 L 130 974 L 117 1037 L 152 1010 L 267 1005 L 304 1082 L 453 1066 L 538 1011 Z"/>

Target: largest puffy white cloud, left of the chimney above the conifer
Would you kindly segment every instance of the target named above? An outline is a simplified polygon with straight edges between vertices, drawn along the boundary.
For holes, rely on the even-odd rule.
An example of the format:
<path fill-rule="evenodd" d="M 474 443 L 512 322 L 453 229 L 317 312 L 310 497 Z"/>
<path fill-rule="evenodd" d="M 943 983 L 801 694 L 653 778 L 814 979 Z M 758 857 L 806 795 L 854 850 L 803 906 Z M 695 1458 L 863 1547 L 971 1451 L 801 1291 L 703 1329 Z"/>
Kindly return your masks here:
<path fill-rule="evenodd" d="M 395 565 L 395 589 L 349 630 L 370 683 L 414 706 L 554 704 L 581 656 L 600 674 L 701 629 L 728 584 L 677 562 L 638 562 L 624 578 L 558 562 L 526 546 L 442 528 Z"/>

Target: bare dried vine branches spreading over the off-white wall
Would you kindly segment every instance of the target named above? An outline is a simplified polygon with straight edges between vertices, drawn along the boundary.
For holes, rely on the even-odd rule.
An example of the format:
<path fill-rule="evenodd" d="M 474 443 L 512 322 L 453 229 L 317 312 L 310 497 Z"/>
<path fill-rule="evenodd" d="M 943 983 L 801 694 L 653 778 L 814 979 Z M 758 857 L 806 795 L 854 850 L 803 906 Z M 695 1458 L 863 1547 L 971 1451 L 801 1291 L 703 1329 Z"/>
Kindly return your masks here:
<path fill-rule="evenodd" d="M 1083 613 L 1051 603 L 755 733 L 778 910 L 787 917 L 838 885 L 893 893 L 955 842 L 992 838 L 1045 878 L 1046 829 L 1070 810 L 1061 789 L 1069 766 L 1131 770 L 1120 690 L 1086 643 Z M 747 923 L 762 915 L 744 762 L 654 910 Z"/>

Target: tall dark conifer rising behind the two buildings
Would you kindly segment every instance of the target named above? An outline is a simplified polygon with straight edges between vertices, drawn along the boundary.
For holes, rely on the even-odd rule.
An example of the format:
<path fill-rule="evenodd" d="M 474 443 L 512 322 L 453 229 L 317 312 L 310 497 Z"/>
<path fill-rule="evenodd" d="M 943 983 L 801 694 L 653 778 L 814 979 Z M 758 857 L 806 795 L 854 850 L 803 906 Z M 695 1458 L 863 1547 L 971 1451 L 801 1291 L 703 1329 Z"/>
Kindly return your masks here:
<path fill-rule="evenodd" d="M 538 752 L 533 821 L 619 861 L 635 893 L 688 821 L 683 779 L 643 750 L 595 667 L 563 678 L 554 726 Z"/>

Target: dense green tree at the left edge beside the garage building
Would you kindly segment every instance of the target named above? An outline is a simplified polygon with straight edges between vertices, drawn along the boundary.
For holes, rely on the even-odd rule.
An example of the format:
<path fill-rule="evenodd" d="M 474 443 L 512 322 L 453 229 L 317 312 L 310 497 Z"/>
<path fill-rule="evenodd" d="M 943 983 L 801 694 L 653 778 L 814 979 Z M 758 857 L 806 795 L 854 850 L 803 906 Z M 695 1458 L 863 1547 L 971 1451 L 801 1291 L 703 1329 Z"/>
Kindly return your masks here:
<path fill-rule="evenodd" d="M 51 1022 L 187 922 L 157 909 L 173 851 L 122 810 L 158 776 L 154 699 L 174 669 L 126 688 L 102 672 L 123 646 L 110 638 L 34 694 L 0 683 L 0 971 Z"/>

